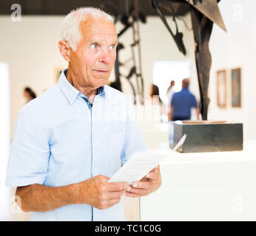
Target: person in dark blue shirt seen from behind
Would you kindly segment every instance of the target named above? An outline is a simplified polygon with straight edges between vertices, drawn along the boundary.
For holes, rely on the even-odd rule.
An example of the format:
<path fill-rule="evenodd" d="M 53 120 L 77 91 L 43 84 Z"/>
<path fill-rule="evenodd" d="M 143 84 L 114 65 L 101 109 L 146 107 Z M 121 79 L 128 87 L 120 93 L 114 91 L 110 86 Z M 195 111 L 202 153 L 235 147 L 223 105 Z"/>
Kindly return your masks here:
<path fill-rule="evenodd" d="M 191 108 L 196 108 L 199 119 L 198 103 L 195 96 L 189 91 L 189 79 L 182 80 L 181 91 L 173 94 L 169 109 L 169 121 L 184 120 L 191 118 Z"/>

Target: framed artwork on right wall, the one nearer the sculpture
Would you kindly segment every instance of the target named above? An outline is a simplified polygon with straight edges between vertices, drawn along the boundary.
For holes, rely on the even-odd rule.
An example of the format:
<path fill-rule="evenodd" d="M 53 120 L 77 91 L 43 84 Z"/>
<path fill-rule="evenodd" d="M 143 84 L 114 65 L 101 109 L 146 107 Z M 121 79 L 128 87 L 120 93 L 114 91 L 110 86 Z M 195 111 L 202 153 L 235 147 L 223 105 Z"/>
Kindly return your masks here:
<path fill-rule="evenodd" d="M 217 75 L 217 105 L 226 108 L 226 70 L 220 70 Z"/>

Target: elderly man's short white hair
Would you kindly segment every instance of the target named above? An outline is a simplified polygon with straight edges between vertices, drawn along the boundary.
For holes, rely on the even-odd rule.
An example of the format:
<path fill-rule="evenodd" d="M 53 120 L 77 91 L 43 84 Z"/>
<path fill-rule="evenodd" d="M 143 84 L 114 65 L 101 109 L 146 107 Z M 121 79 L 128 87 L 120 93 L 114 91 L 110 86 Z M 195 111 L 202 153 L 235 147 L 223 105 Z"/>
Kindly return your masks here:
<path fill-rule="evenodd" d="M 71 11 L 65 18 L 61 27 L 61 40 L 67 41 L 75 51 L 76 46 L 81 41 L 82 35 L 80 25 L 87 18 L 106 18 L 113 22 L 111 15 L 95 7 L 81 7 Z"/>

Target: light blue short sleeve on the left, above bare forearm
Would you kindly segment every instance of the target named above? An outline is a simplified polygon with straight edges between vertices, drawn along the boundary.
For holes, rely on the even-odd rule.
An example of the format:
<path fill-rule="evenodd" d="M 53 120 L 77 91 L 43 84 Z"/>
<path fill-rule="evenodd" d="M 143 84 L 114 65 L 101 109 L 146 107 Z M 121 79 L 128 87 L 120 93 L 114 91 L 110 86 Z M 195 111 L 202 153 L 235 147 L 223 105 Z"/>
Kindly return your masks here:
<path fill-rule="evenodd" d="M 36 116 L 19 111 L 10 147 L 7 186 L 44 183 L 50 154 L 48 143 L 47 130 Z"/>

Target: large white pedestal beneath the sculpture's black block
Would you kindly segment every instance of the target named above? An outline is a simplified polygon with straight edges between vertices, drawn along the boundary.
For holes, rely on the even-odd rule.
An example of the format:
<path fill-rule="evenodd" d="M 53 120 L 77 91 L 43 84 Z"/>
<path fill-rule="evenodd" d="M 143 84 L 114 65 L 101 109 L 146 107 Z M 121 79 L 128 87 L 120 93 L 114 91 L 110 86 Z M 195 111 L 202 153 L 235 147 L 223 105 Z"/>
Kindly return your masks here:
<path fill-rule="evenodd" d="M 140 220 L 256 221 L 255 146 L 170 155 L 160 164 L 161 187 L 141 197 Z"/>

